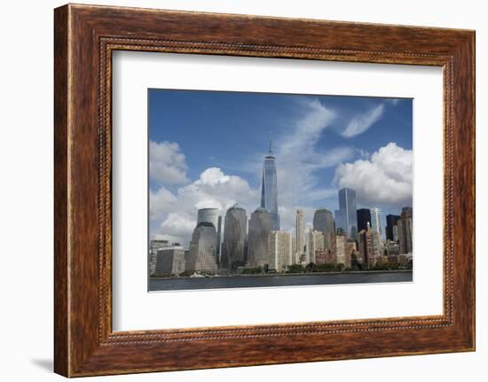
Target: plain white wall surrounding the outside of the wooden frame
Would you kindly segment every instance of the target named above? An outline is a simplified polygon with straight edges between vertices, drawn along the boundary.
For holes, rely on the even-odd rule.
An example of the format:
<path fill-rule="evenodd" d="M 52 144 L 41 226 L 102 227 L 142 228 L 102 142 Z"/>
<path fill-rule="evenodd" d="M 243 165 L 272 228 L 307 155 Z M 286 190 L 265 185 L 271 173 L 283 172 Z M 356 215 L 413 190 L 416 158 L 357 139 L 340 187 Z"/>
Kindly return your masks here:
<path fill-rule="evenodd" d="M 366 21 L 476 29 L 477 124 L 477 351 L 360 361 L 302 363 L 238 369 L 88 378 L 128 381 L 486 380 L 488 356 L 488 250 L 483 233 L 488 204 L 488 24 L 484 2 L 313 0 L 115 0 L 117 4 L 206 12 Z M 59 1 L 4 2 L 0 59 L 0 355 L 3 380 L 50 381 L 62 378 L 52 367 L 52 9 Z M 483 279 L 484 277 L 484 279 Z"/>

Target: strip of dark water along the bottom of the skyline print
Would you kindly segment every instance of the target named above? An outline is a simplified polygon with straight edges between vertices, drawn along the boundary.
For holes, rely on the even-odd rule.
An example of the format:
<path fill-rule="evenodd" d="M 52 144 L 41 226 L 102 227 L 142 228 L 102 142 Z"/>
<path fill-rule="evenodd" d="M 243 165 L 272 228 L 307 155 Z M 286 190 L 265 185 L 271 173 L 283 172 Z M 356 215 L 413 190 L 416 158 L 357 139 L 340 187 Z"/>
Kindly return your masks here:
<path fill-rule="evenodd" d="M 411 282 L 412 271 L 327 273 L 286 276 L 235 276 L 206 278 L 159 278 L 149 280 L 149 291 L 255 288 L 259 286 L 337 285 Z"/>

